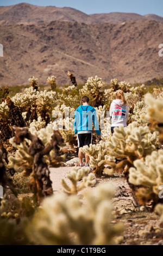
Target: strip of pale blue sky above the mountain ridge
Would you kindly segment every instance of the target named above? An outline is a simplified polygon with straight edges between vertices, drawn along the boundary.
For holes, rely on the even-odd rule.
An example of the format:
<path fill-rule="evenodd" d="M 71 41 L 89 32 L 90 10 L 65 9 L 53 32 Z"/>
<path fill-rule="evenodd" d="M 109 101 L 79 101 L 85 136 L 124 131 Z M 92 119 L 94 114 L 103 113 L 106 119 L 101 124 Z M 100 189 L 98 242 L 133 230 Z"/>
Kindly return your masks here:
<path fill-rule="evenodd" d="M 12 5 L 22 2 L 19 0 L 0 0 L 0 5 Z M 86 14 L 120 11 L 163 16 L 163 0 L 27 0 L 24 2 L 41 6 L 72 7 Z"/>

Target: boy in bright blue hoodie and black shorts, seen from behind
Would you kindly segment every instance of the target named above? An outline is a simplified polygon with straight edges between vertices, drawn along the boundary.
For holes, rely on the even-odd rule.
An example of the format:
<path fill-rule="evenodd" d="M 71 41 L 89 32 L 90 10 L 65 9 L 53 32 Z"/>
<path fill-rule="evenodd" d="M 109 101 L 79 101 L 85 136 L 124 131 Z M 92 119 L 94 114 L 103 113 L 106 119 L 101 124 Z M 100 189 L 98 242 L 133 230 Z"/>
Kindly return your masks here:
<path fill-rule="evenodd" d="M 74 134 L 78 137 L 79 161 L 80 166 L 83 166 L 83 153 L 80 151 L 85 145 L 92 144 L 92 121 L 98 136 L 101 136 L 97 120 L 96 109 L 89 105 L 89 97 L 82 97 L 83 105 L 76 109 L 74 116 Z M 89 166 L 89 156 L 85 155 L 85 166 Z"/>

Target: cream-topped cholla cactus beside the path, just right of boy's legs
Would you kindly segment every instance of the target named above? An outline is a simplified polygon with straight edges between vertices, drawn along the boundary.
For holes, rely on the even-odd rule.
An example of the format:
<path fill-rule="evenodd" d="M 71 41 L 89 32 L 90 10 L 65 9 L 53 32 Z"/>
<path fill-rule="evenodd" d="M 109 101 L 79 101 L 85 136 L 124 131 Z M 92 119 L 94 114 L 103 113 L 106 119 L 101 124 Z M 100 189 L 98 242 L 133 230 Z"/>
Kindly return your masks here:
<path fill-rule="evenodd" d="M 86 145 L 80 149 L 83 153 L 90 156 L 90 167 L 93 169 L 96 177 L 101 177 L 106 163 L 114 161 L 114 157 L 108 155 L 108 143 L 109 141 L 100 141 L 99 144 Z"/>

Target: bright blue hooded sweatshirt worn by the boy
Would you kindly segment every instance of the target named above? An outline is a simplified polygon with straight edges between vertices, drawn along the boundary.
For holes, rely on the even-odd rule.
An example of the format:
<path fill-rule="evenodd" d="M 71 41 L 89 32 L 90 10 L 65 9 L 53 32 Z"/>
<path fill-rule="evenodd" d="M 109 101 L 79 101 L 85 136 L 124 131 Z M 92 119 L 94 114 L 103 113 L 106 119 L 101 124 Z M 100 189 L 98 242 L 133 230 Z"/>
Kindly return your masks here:
<path fill-rule="evenodd" d="M 96 109 L 90 105 L 80 105 L 76 109 L 74 116 L 74 134 L 77 134 L 79 131 L 92 132 L 92 121 L 97 135 L 100 135 Z"/>

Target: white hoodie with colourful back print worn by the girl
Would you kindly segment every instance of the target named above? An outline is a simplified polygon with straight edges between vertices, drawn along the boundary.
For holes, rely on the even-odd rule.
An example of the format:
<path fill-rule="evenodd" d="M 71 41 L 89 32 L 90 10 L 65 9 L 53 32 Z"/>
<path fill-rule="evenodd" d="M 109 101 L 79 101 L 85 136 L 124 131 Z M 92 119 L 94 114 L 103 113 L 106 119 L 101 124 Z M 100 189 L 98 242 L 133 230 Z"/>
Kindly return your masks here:
<path fill-rule="evenodd" d="M 110 105 L 111 126 L 127 126 L 128 106 L 122 100 L 113 100 Z"/>

